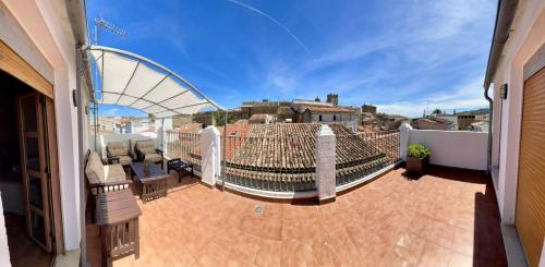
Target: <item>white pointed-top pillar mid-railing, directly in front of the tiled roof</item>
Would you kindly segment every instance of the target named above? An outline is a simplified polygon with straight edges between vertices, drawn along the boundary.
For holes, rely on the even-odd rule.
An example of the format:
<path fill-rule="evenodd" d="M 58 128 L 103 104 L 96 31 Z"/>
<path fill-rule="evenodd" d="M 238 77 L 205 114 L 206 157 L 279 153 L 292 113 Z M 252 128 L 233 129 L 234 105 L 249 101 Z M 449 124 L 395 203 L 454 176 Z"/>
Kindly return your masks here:
<path fill-rule="evenodd" d="M 336 137 L 331 129 L 322 124 L 316 132 L 316 190 L 320 203 L 335 201 L 335 151 Z"/>

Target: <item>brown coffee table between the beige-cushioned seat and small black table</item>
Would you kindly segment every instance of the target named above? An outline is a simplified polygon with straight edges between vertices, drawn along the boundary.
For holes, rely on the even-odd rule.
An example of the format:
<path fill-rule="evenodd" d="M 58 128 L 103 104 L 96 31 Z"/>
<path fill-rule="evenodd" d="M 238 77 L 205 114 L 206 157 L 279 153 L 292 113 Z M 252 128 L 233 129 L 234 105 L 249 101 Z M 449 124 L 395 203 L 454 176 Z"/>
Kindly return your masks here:
<path fill-rule="evenodd" d="M 136 177 L 136 183 L 140 184 L 140 198 L 143 203 L 167 196 L 167 179 L 165 173 L 157 165 L 149 165 L 149 173 L 144 173 L 144 162 L 131 163 L 132 178 Z"/>

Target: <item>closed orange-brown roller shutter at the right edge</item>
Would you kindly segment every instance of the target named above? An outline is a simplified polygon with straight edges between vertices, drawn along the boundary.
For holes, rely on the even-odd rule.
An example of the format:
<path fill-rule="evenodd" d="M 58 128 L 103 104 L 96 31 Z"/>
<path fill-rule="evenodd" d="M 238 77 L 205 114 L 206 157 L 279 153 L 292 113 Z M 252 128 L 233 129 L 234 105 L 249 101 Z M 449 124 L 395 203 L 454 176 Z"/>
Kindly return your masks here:
<path fill-rule="evenodd" d="M 514 224 L 530 266 L 545 236 L 545 68 L 524 82 Z"/>

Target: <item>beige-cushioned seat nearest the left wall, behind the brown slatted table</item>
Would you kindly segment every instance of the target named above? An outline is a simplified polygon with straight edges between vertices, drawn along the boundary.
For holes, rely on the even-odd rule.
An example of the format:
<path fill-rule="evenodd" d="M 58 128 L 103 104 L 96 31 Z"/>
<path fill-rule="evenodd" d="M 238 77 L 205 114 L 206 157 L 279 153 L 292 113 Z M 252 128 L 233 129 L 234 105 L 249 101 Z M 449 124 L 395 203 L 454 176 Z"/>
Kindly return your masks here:
<path fill-rule="evenodd" d="M 95 151 L 87 153 L 85 162 L 85 177 L 87 180 L 87 202 L 90 202 L 93 211 L 92 222 L 96 219 L 96 197 L 104 192 L 130 189 L 131 180 L 126 180 L 125 171 L 121 165 L 102 165 L 102 160 Z"/>

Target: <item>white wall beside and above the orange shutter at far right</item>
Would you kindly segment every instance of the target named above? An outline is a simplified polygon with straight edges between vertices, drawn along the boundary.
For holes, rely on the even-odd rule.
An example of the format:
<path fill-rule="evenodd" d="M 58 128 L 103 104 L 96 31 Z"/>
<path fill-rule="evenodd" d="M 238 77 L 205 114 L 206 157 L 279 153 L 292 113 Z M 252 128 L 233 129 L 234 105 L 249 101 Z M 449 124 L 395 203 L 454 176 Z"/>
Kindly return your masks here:
<path fill-rule="evenodd" d="M 504 49 L 504 57 L 493 78 L 495 89 L 508 84 L 507 99 L 496 101 L 502 108 L 495 108 L 493 142 L 499 139 L 494 161 L 498 160 L 499 172 L 494 180 L 501 221 L 514 223 L 517 203 L 517 180 L 519 169 L 520 130 L 522 118 L 523 66 L 545 44 L 545 1 L 528 0 L 520 2 L 511 26 L 513 28 Z M 494 142 L 494 143 L 496 143 Z M 493 162 L 494 162 L 493 161 Z"/>

